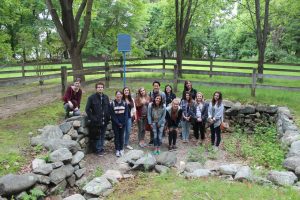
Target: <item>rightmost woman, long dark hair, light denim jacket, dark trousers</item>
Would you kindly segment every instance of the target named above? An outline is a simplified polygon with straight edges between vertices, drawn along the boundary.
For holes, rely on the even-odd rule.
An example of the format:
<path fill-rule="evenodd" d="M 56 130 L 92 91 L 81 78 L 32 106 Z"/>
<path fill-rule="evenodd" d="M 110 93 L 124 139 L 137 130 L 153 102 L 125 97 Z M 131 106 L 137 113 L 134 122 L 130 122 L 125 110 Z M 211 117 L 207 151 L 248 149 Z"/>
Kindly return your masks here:
<path fill-rule="evenodd" d="M 224 105 L 222 93 L 215 92 L 208 107 L 208 121 L 210 122 L 211 144 L 218 150 L 221 142 L 221 123 L 223 122 Z"/>

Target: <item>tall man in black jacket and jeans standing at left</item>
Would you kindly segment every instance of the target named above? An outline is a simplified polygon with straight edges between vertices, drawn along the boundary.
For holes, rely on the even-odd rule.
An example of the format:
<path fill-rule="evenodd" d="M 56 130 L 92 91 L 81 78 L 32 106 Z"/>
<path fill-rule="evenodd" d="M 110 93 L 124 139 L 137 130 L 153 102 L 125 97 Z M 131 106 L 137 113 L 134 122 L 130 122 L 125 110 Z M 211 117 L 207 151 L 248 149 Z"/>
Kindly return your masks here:
<path fill-rule="evenodd" d="M 98 156 L 104 155 L 104 137 L 110 119 L 108 96 L 104 92 L 104 83 L 95 85 L 96 93 L 88 97 L 85 112 L 90 120 L 90 137 Z"/>

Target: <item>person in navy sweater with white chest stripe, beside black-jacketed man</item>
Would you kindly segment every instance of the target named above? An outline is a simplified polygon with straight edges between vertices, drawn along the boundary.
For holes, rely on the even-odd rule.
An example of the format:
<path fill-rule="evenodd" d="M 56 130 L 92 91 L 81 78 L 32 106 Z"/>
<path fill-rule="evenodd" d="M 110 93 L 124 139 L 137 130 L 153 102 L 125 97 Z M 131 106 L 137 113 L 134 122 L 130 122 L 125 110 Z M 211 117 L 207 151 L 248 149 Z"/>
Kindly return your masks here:
<path fill-rule="evenodd" d="M 128 105 L 122 100 L 123 93 L 119 90 L 115 93 L 116 98 L 110 104 L 111 107 L 111 121 L 115 134 L 115 149 L 116 156 L 124 155 L 124 131 L 128 120 Z"/>

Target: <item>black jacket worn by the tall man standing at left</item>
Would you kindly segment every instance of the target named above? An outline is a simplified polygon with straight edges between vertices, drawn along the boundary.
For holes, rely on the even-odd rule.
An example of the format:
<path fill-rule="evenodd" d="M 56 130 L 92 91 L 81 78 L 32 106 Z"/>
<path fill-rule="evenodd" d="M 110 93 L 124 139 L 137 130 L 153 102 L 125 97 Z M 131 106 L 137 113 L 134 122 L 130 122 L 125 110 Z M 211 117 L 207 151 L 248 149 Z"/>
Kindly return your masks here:
<path fill-rule="evenodd" d="M 95 93 L 89 96 L 85 112 L 92 126 L 106 126 L 110 120 L 110 104 L 108 96 L 102 94 L 102 101 L 100 94 Z"/>

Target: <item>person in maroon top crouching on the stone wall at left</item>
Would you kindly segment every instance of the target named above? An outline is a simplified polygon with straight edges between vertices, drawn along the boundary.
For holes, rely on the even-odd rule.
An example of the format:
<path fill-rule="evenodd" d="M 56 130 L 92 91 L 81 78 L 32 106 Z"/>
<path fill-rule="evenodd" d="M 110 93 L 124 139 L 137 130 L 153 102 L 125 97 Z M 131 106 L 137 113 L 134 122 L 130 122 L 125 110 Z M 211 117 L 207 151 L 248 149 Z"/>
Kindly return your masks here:
<path fill-rule="evenodd" d="M 73 85 L 67 88 L 63 96 L 64 109 L 66 111 L 65 118 L 70 117 L 70 111 L 73 112 L 73 116 L 80 115 L 80 101 L 82 96 L 82 90 L 80 89 L 81 79 L 76 78 Z"/>

